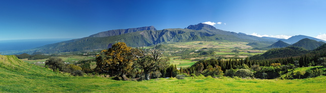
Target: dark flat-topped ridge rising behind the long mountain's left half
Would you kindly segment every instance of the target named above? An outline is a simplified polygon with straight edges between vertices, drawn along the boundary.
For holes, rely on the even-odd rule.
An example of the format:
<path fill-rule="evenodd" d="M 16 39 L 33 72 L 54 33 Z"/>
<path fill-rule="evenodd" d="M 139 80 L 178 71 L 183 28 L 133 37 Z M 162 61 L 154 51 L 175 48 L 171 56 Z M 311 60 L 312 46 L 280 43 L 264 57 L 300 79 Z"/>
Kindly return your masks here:
<path fill-rule="evenodd" d="M 89 37 L 109 37 L 109 36 L 116 36 L 116 35 L 121 35 L 121 34 L 126 34 L 126 33 L 137 32 L 137 31 L 144 31 L 144 30 L 156 31 L 154 26 L 149 26 L 149 27 L 140 27 L 140 28 L 109 30 L 109 31 L 100 32 L 100 33 L 91 35 Z"/>

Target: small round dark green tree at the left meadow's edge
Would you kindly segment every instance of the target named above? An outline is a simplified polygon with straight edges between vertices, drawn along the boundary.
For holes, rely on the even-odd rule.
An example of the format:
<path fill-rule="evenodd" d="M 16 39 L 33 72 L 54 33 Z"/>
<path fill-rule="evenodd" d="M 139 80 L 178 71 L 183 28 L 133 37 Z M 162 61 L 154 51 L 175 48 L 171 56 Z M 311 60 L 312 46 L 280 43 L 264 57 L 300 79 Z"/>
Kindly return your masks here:
<path fill-rule="evenodd" d="M 62 59 L 57 57 L 51 57 L 45 61 L 45 66 L 51 68 L 53 71 L 61 71 L 63 65 Z"/>

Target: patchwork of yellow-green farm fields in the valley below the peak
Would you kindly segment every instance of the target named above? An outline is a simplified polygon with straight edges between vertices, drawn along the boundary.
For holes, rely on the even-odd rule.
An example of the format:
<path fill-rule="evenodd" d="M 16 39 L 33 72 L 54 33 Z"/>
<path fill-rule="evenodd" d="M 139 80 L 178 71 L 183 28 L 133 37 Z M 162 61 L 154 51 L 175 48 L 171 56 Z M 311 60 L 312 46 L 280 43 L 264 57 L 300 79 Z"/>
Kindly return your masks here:
<path fill-rule="evenodd" d="M 219 58 L 219 57 L 238 57 L 246 58 L 256 54 L 262 54 L 266 50 L 252 50 L 253 47 L 246 45 L 246 42 L 208 42 L 208 41 L 194 41 L 194 42 L 180 42 L 167 44 L 169 48 L 166 49 L 166 55 L 170 57 L 170 63 L 180 67 L 189 67 L 198 60 Z M 198 50 L 211 50 L 214 55 L 198 55 L 195 53 Z M 207 49 L 205 49 L 207 48 Z M 236 52 L 232 52 L 236 50 Z M 190 51 L 185 53 L 183 51 Z M 176 55 L 173 54 L 183 54 Z M 185 58 L 185 56 L 188 56 Z M 198 60 L 194 60 L 198 59 Z"/>

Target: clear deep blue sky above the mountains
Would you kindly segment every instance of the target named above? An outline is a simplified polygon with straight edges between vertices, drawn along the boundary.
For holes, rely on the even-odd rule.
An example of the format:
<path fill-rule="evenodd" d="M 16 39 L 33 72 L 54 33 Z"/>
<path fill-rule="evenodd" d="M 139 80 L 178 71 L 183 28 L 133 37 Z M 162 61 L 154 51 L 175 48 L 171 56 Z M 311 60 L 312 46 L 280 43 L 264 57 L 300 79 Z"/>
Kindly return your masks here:
<path fill-rule="evenodd" d="M 83 38 L 99 32 L 204 22 L 253 35 L 326 39 L 326 1 L 2 0 L 0 40 Z M 256 33 L 256 34 L 255 34 Z"/>

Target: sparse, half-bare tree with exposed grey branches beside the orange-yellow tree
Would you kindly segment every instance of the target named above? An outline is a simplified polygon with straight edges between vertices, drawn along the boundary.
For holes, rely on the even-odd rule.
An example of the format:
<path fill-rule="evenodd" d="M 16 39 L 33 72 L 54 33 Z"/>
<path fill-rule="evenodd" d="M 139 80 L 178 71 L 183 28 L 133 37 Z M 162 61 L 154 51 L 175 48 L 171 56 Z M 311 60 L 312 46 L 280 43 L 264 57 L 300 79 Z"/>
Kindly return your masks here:
<path fill-rule="evenodd" d="M 145 79 L 149 80 L 150 72 L 166 68 L 169 65 L 169 58 L 161 58 L 164 51 L 159 51 L 156 49 L 157 46 L 150 49 L 149 51 L 139 49 L 139 47 L 132 53 L 138 58 L 136 61 L 140 69 L 144 70 Z M 138 50 L 138 51 L 137 51 Z M 148 53 L 149 52 L 149 53 Z"/>

